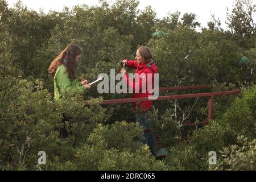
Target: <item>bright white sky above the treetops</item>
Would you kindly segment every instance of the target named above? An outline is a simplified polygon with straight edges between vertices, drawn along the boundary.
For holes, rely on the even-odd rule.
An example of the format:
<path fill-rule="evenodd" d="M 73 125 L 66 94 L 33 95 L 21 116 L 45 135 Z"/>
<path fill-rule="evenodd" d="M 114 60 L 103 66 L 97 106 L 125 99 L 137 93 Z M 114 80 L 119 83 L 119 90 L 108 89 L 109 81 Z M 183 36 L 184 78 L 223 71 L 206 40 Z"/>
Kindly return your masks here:
<path fill-rule="evenodd" d="M 9 6 L 13 7 L 18 0 L 7 0 Z M 61 11 L 63 6 L 72 8 L 75 5 L 87 4 L 89 6 L 98 5 L 97 0 L 23 0 L 23 5 L 28 9 L 39 11 L 44 9 L 47 13 L 50 9 Z M 207 27 L 207 22 L 212 20 L 211 14 L 215 15 L 216 19 L 221 20 L 221 27 L 226 29 L 226 7 L 229 12 L 232 10 L 234 0 L 139 0 L 139 9 L 144 9 L 146 6 L 152 6 L 158 18 L 163 18 L 169 12 L 174 13 L 180 11 L 181 15 L 184 13 L 195 13 L 197 20 L 201 26 Z"/>

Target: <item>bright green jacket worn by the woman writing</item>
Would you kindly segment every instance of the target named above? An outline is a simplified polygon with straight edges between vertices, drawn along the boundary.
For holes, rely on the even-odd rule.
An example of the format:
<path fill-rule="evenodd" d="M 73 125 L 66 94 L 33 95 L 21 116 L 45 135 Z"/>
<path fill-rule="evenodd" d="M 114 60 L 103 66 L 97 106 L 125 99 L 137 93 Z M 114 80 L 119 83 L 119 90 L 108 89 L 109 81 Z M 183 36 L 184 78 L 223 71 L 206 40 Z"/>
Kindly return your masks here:
<path fill-rule="evenodd" d="M 68 92 L 85 92 L 86 88 L 76 79 L 68 77 L 67 68 L 64 65 L 57 67 L 54 76 L 54 99 L 59 100 L 64 91 Z"/>

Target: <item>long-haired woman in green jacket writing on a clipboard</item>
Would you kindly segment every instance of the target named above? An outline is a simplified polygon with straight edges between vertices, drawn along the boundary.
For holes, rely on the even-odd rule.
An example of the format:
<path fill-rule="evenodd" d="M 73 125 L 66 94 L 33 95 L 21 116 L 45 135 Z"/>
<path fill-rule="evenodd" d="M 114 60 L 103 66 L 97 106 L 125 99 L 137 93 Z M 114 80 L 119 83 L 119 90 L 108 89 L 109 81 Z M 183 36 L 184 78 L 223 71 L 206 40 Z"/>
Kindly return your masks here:
<path fill-rule="evenodd" d="M 77 79 L 77 65 L 82 56 L 82 49 L 76 44 L 66 47 L 49 66 L 49 73 L 54 77 L 54 98 L 61 99 L 64 92 L 85 92 L 90 89 L 87 80 L 79 82 Z M 63 121 L 68 118 L 63 115 Z M 64 128 L 60 129 L 60 137 L 68 137 L 68 132 Z"/>

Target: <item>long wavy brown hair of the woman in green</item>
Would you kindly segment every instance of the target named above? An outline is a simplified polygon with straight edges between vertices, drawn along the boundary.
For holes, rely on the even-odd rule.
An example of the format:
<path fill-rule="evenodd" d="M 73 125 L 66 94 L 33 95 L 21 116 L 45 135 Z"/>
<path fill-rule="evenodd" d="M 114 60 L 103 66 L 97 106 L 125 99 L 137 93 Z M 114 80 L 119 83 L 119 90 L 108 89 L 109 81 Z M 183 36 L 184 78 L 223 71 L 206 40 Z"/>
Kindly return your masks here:
<path fill-rule="evenodd" d="M 76 56 L 81 55 L 82 49 L 76 44 L 69 44 L 49 65 L 48 72 L 52 77 L 55 76 L 57 67 L 64 64 L 68 71 L 69 78 L 76 78 L 77 73 L 77 63 Z M 64 62 L 64 59 L 67 60 L 67 63 Z"/>

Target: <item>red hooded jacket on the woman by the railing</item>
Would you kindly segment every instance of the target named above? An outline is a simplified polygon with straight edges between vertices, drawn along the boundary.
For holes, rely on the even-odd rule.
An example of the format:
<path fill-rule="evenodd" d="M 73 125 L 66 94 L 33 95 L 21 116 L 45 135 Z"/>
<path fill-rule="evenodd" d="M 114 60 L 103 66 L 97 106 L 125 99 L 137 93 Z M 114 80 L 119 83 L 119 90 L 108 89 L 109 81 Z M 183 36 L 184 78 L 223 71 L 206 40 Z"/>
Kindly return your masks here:
<path fill-rule="evenodd" d="M 152 95 L 155 73 L 158 73 L 158 68 L 155 63 L 152 60 L 140 64 L 138 64 L 137 61 L 127 61 L 127 67 L 136 69 L 135 78 L 133 80 L 128 74 L 123 76 L 123 79 L 127 83 L 127 88 L 133 88 L 133 98 L 148 97 Z M 137 93 L 135 93 L 135 91 L 137 91 Z M 140 107 L 143 111 L 146 111 L 151 109 L 152 104 L 153 101 L 133 102 L 133 107 L 135 110 Z"/>

